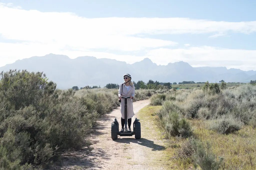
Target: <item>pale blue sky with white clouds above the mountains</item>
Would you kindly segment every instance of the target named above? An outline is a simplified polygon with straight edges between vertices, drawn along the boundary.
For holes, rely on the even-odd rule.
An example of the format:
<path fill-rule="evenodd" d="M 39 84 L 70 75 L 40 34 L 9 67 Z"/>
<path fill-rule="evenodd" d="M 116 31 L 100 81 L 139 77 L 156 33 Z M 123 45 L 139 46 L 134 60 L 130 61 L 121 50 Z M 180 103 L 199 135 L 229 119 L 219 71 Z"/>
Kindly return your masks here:
<path fill-rule="evenodd" d="M 256 70 L 256 1 L 0 0 L 0 67 L 50 53 Z"/>

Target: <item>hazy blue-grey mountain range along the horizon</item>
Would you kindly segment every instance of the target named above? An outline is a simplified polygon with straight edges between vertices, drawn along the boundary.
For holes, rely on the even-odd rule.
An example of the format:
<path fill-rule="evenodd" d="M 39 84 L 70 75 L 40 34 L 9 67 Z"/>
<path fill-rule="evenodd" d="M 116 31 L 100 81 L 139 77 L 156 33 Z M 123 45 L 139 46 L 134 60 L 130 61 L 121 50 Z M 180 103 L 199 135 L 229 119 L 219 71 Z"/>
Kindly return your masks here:
<path fill-rule="evenodd" d="M 113 59 L 97 59 L 84 56 L 70 59 L 65 55 L 48 54 L 42 57 L 31 57 L 17 60 L 12 64 L 0 67 L 0 71 L 10 69 L 40 71 L 46 73 L 49 80 L 57 83 L 58 88 L 67 89 L 72 86 L 86 85 L 105 86 L 108 83 L 120 84 L 123 74 L 130 73 L 132 80 L 137 82 L 148 80 L 159 82 L 250 82 L 256 80 L 256 71 L 227 69 L 226 67 L 192 67 L 188 63 L 179 61 L 168 63 L 166 66 L 153 63 L 149 58 L 140 62 L 127 64 Z"/>

